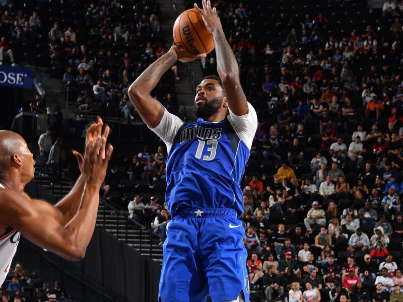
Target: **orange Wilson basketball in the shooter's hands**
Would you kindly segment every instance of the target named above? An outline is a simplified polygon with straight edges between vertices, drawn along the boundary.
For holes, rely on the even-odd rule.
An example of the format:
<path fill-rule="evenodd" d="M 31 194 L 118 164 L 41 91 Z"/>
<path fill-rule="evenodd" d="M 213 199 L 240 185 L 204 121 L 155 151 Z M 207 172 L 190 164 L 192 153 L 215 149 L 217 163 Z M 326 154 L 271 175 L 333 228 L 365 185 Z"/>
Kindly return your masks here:
<path fill-rule="evenodd" d="M 194 54 L 209 53 L 214 49 L 213 35 L 196 9 L 184 11 L 176 18 L 173 40 L 179 48 Z"/>

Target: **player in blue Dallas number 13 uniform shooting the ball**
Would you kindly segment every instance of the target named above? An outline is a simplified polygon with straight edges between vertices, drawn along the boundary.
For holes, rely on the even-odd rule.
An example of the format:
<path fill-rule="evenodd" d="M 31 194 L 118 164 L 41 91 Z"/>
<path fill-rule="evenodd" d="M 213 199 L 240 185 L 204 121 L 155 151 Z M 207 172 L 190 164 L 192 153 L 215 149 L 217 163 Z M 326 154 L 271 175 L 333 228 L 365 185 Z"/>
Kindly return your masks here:
<path fill-rule="evenodd" d="M 150 96 L 175 64 L 205 57 L 171 49 L 130 86 L 129 98 L 144 122 L 166 143 L 167 225 L 159 302 L 248 301 L 240 181 L 256 132 L 257 117 L 246 101 L 238 64 L 210 2 L 198 10 L 212 32 L 220 77 L 196 88 L 194 123 L 186 124 Z M 227 115 L 227 113 L 229 114 Z"/>

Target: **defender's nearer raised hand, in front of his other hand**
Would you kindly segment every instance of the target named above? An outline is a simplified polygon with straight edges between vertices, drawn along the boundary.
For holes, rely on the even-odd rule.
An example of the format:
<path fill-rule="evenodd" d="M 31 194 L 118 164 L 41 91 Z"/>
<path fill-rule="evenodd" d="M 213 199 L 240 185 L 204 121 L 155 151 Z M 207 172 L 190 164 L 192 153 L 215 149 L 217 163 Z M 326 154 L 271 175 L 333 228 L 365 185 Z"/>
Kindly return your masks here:
<path fill-rule="evenodd" d="M 95 143 L 92 140 L 87 143 L 84 161 L 81 165 L 81 173 L 87 182 L 101 186 L 105 179 L 112 151 L 112 145 L 110 143 L 106 144 L 106 137 L 104 136 L 97 136 Z M 83 157 L 77 151 L 74 152 L 74 155 L 78 160 Z"/>

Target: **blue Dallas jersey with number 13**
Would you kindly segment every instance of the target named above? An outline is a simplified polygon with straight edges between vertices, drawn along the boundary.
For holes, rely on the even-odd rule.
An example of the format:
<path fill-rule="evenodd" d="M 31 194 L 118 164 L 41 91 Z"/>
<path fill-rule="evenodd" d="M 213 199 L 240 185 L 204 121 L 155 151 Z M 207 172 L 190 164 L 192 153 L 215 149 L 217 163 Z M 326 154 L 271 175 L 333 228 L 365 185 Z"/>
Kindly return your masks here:
<path fill-rule="evenodd" d="M 168 211 L 233 208 L 243 212 L 239 186 L 250 151 L 228 118 L 198 119 L 177 132 L 166 166 Z"/>

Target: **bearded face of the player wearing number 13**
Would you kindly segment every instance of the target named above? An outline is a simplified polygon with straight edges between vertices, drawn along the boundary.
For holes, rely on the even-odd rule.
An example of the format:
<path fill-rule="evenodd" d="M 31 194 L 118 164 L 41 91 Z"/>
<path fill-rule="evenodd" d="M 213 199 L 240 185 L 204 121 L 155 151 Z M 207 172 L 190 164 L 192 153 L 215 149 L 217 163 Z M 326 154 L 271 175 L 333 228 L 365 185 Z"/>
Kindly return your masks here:
<path fill-rule="evenodd" d="M 204 120 L 216 114 L 225 101 L 224 90 L 217 80 L 206 79 L 196 87 L 193 113 Z"/>

